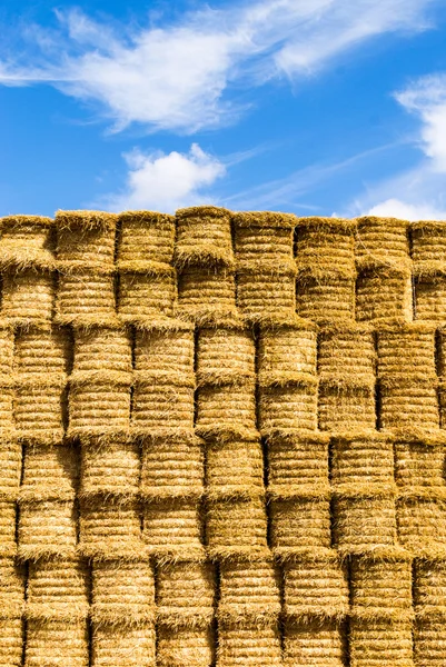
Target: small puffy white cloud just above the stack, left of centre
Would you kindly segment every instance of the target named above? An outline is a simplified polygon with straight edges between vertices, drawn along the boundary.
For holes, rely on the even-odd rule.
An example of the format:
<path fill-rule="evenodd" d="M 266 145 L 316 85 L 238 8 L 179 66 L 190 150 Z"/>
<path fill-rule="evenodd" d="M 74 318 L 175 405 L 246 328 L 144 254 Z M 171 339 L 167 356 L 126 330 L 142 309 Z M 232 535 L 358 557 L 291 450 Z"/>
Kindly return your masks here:
<path fill-rule="evenodd" d="M 121 192 L 105 198 L 108 210 L 148 209 L 174 212 L 205 199 L 206 187 L 225 175 L 225 166 L 192 143 L 188 153 L 176 151 L 125 155 L 129 171 Z"/>

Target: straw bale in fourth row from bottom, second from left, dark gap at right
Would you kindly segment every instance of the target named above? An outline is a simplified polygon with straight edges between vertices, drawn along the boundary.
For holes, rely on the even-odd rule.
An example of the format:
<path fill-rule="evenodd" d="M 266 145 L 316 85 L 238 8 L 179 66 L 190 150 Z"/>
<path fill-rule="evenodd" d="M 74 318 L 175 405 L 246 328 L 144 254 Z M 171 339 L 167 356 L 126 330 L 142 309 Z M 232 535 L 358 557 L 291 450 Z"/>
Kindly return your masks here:
<path fill-rule="evenodd" d="M 66 445 L 26 445 L 22 500 L 70 500 L 79 480 L 79 451 Z"/>

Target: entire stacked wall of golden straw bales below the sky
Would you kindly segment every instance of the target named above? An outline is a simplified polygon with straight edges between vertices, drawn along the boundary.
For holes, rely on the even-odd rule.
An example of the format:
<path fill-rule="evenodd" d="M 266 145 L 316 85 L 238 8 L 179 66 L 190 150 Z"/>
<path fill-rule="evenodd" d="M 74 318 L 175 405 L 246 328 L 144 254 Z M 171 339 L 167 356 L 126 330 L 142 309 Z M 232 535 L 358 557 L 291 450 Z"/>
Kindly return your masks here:
<path fill-rule="evenodd" d="M 0 667 L 443 667 L 446 222 L 0 219 Z"/>

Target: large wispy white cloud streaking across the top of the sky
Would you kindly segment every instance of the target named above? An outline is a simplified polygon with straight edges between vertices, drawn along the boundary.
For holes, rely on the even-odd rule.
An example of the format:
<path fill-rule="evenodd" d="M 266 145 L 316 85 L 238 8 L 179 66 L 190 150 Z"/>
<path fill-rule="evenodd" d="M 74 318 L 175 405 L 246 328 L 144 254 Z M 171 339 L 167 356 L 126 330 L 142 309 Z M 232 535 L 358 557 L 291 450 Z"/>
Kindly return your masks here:
<path fill-rule="evenodd" d="M 423 30 L 426 9 L 438 2 L 245 0 L 138 31 L 59 12 L 59 40 L 51 36 L 40 58 L 34 44 L 32 66 L 0 63 L 0 83 L 47 82 L 99 103 L 116 129 L 140 122 L 194 132 L 237 117 L 240 108 L 225 99 L 232 83 L 306 74 L 373 36 Z"/>

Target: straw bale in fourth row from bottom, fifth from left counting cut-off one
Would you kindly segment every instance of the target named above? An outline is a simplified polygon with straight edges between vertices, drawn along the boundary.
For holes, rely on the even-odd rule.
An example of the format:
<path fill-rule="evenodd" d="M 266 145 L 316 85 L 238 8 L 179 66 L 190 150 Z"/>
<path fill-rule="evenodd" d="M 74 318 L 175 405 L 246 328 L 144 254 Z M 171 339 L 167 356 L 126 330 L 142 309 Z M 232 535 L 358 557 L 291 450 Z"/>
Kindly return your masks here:
<path fill-rule="evenodd" d="M 209 441 L 206 450 L 206 491 L 212 498 L 259 496 L 264 491 L 260 441 Z"/>

